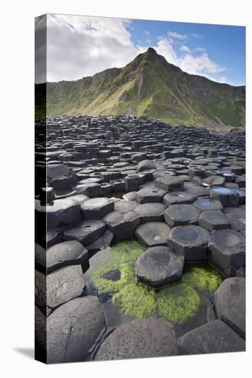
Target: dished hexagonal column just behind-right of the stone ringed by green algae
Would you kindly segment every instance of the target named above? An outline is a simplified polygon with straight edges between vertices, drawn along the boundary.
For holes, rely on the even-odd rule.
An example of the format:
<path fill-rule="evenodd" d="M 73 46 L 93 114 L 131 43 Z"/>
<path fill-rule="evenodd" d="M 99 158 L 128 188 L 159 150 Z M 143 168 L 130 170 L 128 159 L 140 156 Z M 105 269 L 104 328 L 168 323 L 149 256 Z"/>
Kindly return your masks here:
<path fill-rule="evenodd" d="M 185 256 L 185 261 L 196 262 L 207 260 L 207 242 L 209 232 L 198 225 L 181 225 L 174 227 L 167 245 Z"/>

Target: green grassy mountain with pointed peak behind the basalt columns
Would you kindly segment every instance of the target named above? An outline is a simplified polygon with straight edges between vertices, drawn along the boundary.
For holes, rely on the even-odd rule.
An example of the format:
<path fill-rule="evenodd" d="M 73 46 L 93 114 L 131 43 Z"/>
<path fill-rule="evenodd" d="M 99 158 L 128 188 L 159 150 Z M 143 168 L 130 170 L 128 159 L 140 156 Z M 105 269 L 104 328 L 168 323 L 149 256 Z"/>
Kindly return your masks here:
<path fill-rule="evenodd" d="M 190 75 L 149 47 L 123 68 L 74 81 L 48 82 L 48 115 L 126 115 L 173 125 L 244 126 L 245 87 Z M 45 106 L 36 85 L 36 115 Z"/>

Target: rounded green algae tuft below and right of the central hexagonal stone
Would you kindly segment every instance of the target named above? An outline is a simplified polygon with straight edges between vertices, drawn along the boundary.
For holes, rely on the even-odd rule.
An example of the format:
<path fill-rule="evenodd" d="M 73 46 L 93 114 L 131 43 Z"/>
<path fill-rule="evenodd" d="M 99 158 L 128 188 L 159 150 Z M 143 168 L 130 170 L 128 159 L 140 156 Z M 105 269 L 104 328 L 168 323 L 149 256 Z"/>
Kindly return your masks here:
<path fill-rule="evenodd" d="M 193 318 L 200 307 L 197 291 L 185 282 L 161 289 L 157 294 L 158 313 L 172 323 L 182 324 Z"/>

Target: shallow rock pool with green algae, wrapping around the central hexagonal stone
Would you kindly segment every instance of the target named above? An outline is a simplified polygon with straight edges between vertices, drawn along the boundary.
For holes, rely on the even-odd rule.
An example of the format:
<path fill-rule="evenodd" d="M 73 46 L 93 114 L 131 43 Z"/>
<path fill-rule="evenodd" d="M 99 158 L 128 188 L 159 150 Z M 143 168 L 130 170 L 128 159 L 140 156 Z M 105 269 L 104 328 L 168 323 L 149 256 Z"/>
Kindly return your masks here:
<path fill-rule="evenodd" d="M 181 282 L 154 289 L 136 282 L 134 266 L 145 246 L 127 240 L 90 256 L 86 293 L 103 303 L 107 327 L 136 318 L 165 318 L 176 337 L 216 319 L 213 294 L 223 277 L 207 264 L 185 265 Z"/>

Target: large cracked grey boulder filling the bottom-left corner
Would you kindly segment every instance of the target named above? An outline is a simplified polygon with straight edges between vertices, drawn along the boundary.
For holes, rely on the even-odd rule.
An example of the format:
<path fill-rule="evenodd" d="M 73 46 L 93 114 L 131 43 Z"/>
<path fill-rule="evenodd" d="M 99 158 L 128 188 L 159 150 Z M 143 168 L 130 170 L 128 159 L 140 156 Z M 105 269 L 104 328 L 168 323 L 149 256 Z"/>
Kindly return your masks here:
<path fill-rule="evenodd" d="M 63 304 L 48 317 L 48 363 L 85 361 L 104 327 L 98 298 L 85 296 Z"/>

